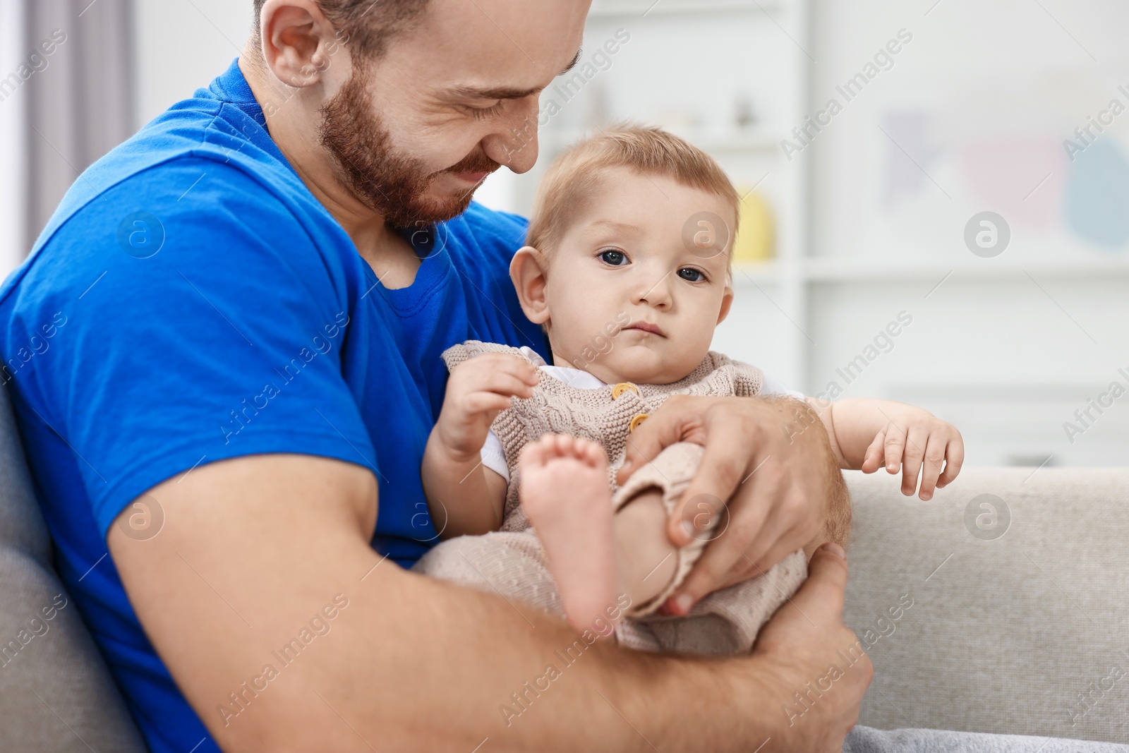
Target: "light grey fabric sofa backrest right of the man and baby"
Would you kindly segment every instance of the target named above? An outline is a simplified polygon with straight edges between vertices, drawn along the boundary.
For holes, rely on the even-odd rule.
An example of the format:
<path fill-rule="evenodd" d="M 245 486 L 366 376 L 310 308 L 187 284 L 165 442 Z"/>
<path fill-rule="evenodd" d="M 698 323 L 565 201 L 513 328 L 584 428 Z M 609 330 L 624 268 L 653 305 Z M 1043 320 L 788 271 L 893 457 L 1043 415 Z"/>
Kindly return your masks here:
<path fill-rule="evenodd" d="M 968 469 L 929 502 L 848 484 L 859 724 L 1129 741 L 1129 469 Z"/>

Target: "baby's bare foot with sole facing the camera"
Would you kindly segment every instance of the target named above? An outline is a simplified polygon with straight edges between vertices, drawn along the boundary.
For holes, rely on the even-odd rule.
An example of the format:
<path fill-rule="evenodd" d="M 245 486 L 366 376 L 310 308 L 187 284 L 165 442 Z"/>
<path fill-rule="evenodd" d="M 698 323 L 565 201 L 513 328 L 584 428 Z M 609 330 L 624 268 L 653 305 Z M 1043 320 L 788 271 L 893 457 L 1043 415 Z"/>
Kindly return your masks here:
<path fill-rule="evenodd" d="M 616 571 L 603 448 L 580 437 L 545 435 L 525 446 L 518 463 L 522 507 L 545 549 L 566 618 L 580 631 L 597 619 L 606 622 Z"/>

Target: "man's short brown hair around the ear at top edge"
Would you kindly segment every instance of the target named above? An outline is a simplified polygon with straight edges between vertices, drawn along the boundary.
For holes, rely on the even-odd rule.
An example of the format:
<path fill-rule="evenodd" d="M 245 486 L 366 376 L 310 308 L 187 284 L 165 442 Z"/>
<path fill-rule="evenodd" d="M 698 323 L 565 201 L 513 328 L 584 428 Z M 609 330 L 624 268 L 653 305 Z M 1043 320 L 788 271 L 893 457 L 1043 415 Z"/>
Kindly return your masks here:
<path fill-rule="evenodd" d="M 255 38 L 265 0 L 255 2 Z M 428 0 L 317 0 L 339 40 L 359 60 L 384 54 L 390 38 L 411 27 L 427 10 Z"/>

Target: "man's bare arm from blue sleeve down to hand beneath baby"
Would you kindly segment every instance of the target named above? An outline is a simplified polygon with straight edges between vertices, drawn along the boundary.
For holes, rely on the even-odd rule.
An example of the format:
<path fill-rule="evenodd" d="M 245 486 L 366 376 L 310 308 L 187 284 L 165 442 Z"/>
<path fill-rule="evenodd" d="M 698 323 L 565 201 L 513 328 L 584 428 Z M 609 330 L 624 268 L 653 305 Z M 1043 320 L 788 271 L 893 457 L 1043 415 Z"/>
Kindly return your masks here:
<path fill-rule="evenodd" d="M 649 751 L 644 736 L 672 753 L 702 750 L 703 741 L 747 751 L 802 732 L 841 744 L 869 680 L 867 664 L 857 692 L 821 703 L 803 727 L 779 729 L 790 685 L 854 640 L 826 606 L 832 593 L 841 608 L 830 564 L 805 586 L 803 610 L 820 629 L 803 646 L 728 662 L 603 641 L 581 653 L 576 633 L 546 614 L 382 561 L 368 543 L 376 484 L 360 466 L 248 456 L 170 479 L 148 497 L 165 513 L 160 533 L 134 541 L 115 523 L 110 551 L 157 651 L 231 753 L 466 753 L 487 737 L 502 751 Z M 315 634 L 315 615 L 329 632 L 296 650 L 292 639 Z M 802 621 L 774 621 L 782 636 L 789 619 Z M 550 665 L 558 675 L 546 680 Z M 526 700 L 515 703 L 515 693 Z"/>

